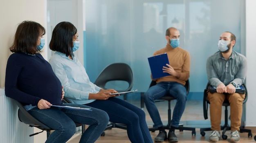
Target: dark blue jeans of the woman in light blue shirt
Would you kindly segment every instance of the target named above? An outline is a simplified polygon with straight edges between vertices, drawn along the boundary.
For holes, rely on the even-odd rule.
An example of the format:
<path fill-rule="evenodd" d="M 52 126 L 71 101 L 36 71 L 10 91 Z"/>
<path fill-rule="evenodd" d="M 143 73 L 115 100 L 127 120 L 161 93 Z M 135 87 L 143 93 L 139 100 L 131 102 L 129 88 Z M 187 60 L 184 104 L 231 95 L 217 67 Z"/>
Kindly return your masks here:
<path fill-rule="evenodd" d="M 132 143 L 153 143 L 145 112 L 140 108 L 119 98 L 95 100 L 86 105 L 106 111 L 110 122 L 126 124 L 127 134 Z"/>

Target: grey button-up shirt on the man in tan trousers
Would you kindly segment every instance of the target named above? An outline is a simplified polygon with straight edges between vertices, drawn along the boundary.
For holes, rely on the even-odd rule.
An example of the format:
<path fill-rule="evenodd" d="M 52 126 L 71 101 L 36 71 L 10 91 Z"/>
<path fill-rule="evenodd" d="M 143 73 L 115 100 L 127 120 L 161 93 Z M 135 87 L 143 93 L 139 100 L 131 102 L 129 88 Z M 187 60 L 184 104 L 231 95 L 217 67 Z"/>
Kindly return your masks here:
<path fill-rule="evenodd" d="M 221 83 L 229 85 L 234 82 L 236 87 L 243 85 L 247 72 L 247 60 L 244 55 L 232 51 L 228 60 L 222 57 L 220 51 L 207 58 L 206 71 L 208 81 L 214 87 Z"/>

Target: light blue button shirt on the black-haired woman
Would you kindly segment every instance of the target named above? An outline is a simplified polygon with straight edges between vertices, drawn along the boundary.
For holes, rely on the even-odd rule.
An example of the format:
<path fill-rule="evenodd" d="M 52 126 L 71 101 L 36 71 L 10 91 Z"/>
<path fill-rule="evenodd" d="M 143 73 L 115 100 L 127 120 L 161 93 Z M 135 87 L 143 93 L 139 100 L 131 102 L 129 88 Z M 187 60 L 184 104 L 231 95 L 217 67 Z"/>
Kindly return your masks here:
<path fill-rule="evenodd" d="M 64 87 L 65 97 L 72 103 L 88 104 L 89 93 L 98 93 L 101 89 L 90 79 L 76 55 L 70 59 L 66 54 L 54 52 L 49 60 L 52 69 Z"/>

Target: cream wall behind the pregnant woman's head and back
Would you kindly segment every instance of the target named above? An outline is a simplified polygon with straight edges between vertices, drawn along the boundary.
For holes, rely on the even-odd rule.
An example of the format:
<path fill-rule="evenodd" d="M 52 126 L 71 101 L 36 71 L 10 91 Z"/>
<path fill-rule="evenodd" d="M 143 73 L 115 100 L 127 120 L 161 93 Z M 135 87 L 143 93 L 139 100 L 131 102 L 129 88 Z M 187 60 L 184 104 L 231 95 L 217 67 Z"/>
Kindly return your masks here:
<path fill-rule="evenodd" d="M 4 87 L 6 63 L 11 54 L 9 47 L 17 25 L 33 20 L 46 28 L 46 0 L 1 0 L 0 13 L 0 87 Z"/>

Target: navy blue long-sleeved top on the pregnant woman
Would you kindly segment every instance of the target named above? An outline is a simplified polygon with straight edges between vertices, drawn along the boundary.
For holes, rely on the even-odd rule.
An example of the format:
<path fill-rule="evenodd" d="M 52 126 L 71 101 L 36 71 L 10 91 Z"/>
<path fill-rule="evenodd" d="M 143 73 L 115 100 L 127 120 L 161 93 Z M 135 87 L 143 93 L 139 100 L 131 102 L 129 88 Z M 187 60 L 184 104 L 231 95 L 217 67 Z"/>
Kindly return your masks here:
<path fill-rule="evenodd" d="M 61 82 L 41 54 L 11 54 L 6 67 L 5 94 L 23 105 L 37 106 L 41 99 L 53 105 L 62 104 Z"/>

